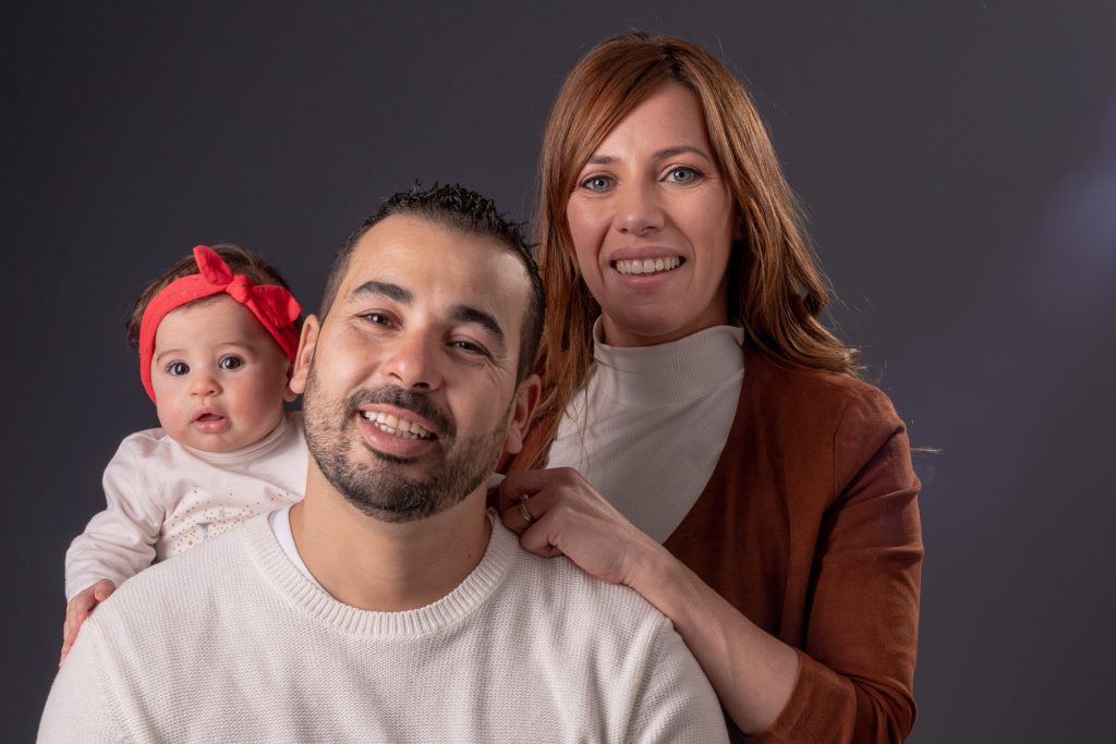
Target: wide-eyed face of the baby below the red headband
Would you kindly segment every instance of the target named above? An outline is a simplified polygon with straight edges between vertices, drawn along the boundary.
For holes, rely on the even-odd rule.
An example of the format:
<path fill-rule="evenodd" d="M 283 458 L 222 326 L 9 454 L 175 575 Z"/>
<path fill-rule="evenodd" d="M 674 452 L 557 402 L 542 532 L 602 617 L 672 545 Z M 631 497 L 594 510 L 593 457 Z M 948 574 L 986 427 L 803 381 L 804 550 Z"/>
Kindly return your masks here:
<path fill-rule="evenodd" d="M 158 422 L 176 442 L 232 452 L 283 415 L 290 360 L 251 311 L 227 296 L 183 306 L 155 332 L 151 377 Z"/>

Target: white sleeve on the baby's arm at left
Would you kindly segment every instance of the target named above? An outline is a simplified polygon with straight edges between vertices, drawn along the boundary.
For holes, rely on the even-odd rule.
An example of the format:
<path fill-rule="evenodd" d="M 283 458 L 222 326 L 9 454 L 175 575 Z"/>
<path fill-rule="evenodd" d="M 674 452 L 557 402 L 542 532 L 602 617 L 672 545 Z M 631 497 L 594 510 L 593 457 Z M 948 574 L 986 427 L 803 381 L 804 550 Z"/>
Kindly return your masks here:
<path fill-rule="evenodd" d="M 119 587 L 155 558 L 166 513 L 143 481 L 141 436 L 121 443 L 105 468 L 105 510 L 94 515 L 66 551 L 66 601 L 100 579 Z"/>

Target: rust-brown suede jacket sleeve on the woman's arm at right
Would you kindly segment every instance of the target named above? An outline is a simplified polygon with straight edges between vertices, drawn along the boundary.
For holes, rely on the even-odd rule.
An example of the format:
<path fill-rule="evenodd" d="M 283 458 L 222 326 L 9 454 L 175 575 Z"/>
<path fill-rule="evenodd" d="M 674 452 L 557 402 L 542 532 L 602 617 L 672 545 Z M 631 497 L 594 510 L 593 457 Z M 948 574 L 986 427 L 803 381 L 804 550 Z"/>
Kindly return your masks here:
<path fill-rule="evenodd" d="M 914 724 L 922 531 L 905 428 L 870 389 L 834 437 L 834 492 L 791 698 L 759 742 L 901 742 Z"/>

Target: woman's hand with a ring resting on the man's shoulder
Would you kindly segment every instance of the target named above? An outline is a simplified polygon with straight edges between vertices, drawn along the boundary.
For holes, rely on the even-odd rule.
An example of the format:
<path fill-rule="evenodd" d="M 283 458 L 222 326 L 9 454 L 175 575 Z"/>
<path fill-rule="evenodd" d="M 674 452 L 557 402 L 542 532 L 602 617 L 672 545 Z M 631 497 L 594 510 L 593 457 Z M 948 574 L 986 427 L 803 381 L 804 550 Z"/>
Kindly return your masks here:
<path fill-rule="evenodd" d="M 526 550 L 566 555 L 612 583 L 637 588 L 639 572 L 665 552 L 569 467 L 508 473 L 500 511 Z"/>

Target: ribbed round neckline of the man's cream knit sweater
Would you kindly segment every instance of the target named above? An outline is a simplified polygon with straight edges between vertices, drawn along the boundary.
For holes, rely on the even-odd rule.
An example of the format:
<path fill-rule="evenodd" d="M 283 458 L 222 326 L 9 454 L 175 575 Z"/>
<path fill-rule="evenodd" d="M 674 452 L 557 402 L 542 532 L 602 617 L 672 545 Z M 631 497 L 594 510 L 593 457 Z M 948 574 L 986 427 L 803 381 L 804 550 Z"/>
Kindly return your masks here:
<path fill-rule="evenodd" d="M 290 562 L 276 540 L 267 515 L 240 528 L 257 568 L 275 589 L 321 625 L 373 640 L 403 640 L 436 634 L 465 619 L 498 589 L 521 548 L 503 523 L 489 511 L 492 537 L 484 557 L 465 580 L 442 599 L 403 612 L 372 612 L 337 601 L 309 581 Z"/>

